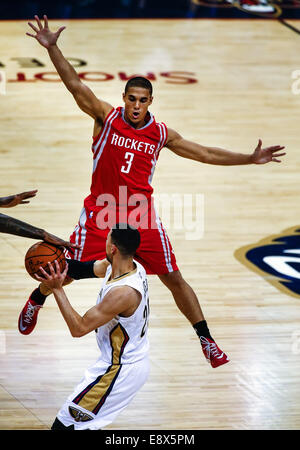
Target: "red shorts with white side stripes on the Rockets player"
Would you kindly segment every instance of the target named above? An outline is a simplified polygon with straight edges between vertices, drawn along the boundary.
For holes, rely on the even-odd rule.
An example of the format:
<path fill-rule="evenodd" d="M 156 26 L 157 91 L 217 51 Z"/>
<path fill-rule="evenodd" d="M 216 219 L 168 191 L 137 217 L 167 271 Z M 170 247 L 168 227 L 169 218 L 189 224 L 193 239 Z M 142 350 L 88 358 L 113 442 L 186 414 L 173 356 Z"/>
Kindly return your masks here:
<path fill-rule="evenodd" d="M 152 214 L 155 227 L 139 228 L 141 244 L 134 256 L 147 274 L 163 275 L 178 270 L 172 245 L 160 218 Z M 81 250 L 69 252 L 71 258 L 79 261 L 101 260 L 106 257 L 106 238 L 109 228 L 97 226 L 96 213 L 84 207 L 70 241 L 82 246 Z"/>

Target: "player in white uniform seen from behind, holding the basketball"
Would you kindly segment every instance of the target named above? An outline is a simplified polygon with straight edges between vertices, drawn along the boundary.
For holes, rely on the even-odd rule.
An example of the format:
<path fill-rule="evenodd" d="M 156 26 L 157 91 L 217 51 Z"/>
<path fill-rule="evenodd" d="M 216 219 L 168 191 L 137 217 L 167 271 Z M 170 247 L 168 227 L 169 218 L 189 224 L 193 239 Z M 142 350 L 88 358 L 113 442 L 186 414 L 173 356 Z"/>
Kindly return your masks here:
<path fill-rule="evenodd" d="M 104 277 L 96 306 L 80 316 L 62 287 L 68 267 L 49 263 L 43 281 L 54 294 L 72 336 L 96 330 L 101 350 L 97 362 L 59 410 L 52 430 L 99 430 L 129 404 L 149 373 L 149 298 L 146 272 L 133 259 L 140 244 L 138 230 L 117 224 L 106 241 L 107 259 L 94 263 L 94 273 Z M 109 262 L 108 262 L 109 261 Z M 84 264 L 84 263 L 83 263 Z M 80 265 L 80 262 L 79 262 Z"/>

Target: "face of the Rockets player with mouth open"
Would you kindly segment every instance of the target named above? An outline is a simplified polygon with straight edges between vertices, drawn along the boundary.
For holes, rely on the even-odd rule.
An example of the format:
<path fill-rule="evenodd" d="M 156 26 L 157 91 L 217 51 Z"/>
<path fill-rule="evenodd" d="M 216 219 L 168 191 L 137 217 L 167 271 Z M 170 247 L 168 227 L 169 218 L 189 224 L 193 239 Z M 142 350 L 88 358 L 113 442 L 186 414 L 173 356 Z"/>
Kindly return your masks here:
<path fill-rule="evenodd" d="M 126 94 L 123 94 L 125 103 L 125 120 L 135 128 L 140 128 L 145 124 L 145 116 L 152 103 L 148 89 L 141 87 L 131 87 Z"/>

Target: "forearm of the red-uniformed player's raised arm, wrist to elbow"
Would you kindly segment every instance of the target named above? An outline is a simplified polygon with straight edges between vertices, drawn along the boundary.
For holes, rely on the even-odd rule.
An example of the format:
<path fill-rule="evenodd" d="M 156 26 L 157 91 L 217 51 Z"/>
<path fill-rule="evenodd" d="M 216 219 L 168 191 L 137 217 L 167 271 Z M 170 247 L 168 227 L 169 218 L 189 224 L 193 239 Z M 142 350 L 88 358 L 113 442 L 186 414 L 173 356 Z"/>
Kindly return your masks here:
<path fill-rule="evenodd" d="M 73 92 L 76 85 L 80 83 L 80 78 L 74 69 L 74 67 L 66 60 L 57 45 L 52 45 L 48 49 L 48 53 L 54 67 L 57 70 L 61 80 L 65 84 L 66 88 Z"/>

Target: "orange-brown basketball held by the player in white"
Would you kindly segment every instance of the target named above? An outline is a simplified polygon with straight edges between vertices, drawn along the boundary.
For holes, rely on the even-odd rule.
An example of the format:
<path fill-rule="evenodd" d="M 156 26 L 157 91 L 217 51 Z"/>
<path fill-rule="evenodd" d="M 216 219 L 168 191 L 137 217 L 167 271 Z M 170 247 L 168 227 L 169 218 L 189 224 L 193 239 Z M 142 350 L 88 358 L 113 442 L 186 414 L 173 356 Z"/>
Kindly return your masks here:
<path fill-rule="evenodd" d="M 32 278 L 34 278 L 35 274 L 43 277 L 39 267 L 41 266 L 49 273 L 48 262 L 54 263 L 55 260 L 59 264 L 60 271 L 63 272 L 66 267 L 63 248 L 47 244 L 47 242 L 37 242 L 28 249 L 25 255 L 25 268 Z"/>

